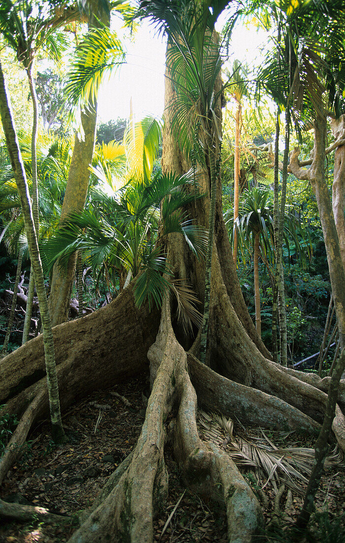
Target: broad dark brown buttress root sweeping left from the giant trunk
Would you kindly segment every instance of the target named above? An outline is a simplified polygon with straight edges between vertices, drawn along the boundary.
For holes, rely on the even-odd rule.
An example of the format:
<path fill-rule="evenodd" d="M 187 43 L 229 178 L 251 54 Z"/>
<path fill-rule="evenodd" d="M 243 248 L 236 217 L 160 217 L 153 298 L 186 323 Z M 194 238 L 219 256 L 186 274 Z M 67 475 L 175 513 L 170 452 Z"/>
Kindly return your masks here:
<path fill-rule="evenodd" d="M 73 367 L 69 377 L 78 375 L 73 387 L 79 396 L 87 394 L 85 387 L 94 390 L 125 381 L 147 364 L 146 355 L 155 340 L 158 324 L 157 310 L 149 312 L 145 305 L 138 310 L 130 286 L 106 307 L 54 327 L 56 365 Z M 8 402 L 45 374 L 40 335 L 1 361 L 0 402 Z M 67 395 L 68 383 L 69 378 L 64 383 Z M 62 399 L 66 390 L 59 388 Z"/>

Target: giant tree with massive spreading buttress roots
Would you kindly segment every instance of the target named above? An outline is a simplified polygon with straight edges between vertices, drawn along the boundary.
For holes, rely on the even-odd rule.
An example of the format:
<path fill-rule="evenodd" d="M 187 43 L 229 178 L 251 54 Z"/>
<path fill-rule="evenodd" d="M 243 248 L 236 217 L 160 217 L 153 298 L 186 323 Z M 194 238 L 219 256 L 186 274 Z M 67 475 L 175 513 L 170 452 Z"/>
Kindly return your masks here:
<path fill-rule="evenodd" d="M 159 5 L 162 7 L 162 2 Z M 175 9 L 176 12 L 181 12 L 182 8 L 183 4 L 177 0 L 164 4 L 164 9 Z M 167 105 L 174 92 L 175 87 L 167 78 Z M 220 116 L 220 104 L 216 105 L 216 115 Z M 190 162 L 176 141 L 169 115 L 167 118 L 163 172 L 174 171 L 180 175 L 190 169 Z M 200 175 L 198 181 L 202 192 L 207 194 L 206 202 L 199 200 L 196 205 L 192 202 L 188 212 L 196 224 L 205 225 L 209 209 L 208 173 Z M 78 540 L 85 543 L 152 541 L 152 519 L 155 510 L 164 503 L 167 492 L 164 447 L 170 436 L 164 423 L 170 413 L 174 413 L 175 419 L 171 443 L 186 483 L 203 496 L 215 496 L 222 501 L 227 510 L 230 541 L 251 540 L 260 522 L 260 508 L 227 455 L 213 444 L 200 440 L 196 427 L 197 401 L 206 409 L 219 409 L 225 415 L 235 414 L 244 423 L 256 422 L 263 427 L 278 428 L 283 425 L 289 429 L 303 428 L 306 432 L 314 432 L 320 427 L 327 404 L 324 391 L 329 380 L 280 367 L 270 360 L 240 291 L 222 218 L 219 178 L 216 181 L 214 226 L 209 319 L 212 368 L 197 359 L 200 335 L 197 330 L 191 337 L 181 331 L 174 306 L 170 305 L 170 296 L 164 298 L 161 311 L 149 312 L 148 304 L 138 309 L 133 283 L 101 310 L 54 329 L 64 407 L 71 405 L 76 396 L 87 394 L 95 387 L 109 387 L 114 381 L 143 371 L 147 355 L 152 384 L 135 450 L 110 477 L 93 509 L 85 515 L 86 521 L 73 534 L 71 543 Z M 175 235 L 168 236 L 164 249 L 174 278 L 188 282 L 202 300 L 205 262 L 194 258 L 188 245 Z M 30 372 L 42 367 L 41 338 L 31 342 L 30 349 L 24 345 L 2 361 L 0 377 L 7 375 L 8 378 L 0 378 L 1 399 L 8 398 L 11 387 L 23 378 L 23 359 L 30 365 Z M 41 386 L 41 383 L 31 385 L 36 391 Z M 30 387 L 22 390 L 21 399 L 28 399 L 32 390 Z M 338 401 L 342 398 L 343 389 Z M 21 414 L 19 402 L 18 397 L 11 397 L 8 411 Z M 40 412 L 45 408 L 46 403 L 42 401 Z M 33 409 L 31 424 L 35 416 L 37 411 Z M 339 408 L 333 428 L 340 446 L 345 449 L 342 424 Z"/>

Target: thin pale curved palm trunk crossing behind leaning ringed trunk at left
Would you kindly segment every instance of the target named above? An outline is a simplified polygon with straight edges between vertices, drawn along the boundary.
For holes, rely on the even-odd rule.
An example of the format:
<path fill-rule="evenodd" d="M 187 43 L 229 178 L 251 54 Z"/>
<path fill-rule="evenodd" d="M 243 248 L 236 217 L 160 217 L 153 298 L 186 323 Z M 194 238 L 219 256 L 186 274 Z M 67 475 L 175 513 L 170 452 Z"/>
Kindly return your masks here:
<path fill-rule="evenodd" d="M 31 168 L 33 174 L 33 216 L 37 239 L 39 238 L 40 224 L 39 224 L 39 184 L 37 180 L 37 131 L 38 131 L 38 118 L 39 118 L 39 105 L 37 101 L 35 81 L 33 78 L 33 64 L 31 62 L 27 69 L 30 96 L 33 102 L 33 131 L 31 134 Z M 35 279 L 33 267 L 30 267 L 30 279 L 29 290 L 27 299 L 27 308 L 24 318 L 23 338 L 22 345 L 27 342 L 31 327 L 31 314 L 33 313 L 33 301 L 35 294 Z"/>

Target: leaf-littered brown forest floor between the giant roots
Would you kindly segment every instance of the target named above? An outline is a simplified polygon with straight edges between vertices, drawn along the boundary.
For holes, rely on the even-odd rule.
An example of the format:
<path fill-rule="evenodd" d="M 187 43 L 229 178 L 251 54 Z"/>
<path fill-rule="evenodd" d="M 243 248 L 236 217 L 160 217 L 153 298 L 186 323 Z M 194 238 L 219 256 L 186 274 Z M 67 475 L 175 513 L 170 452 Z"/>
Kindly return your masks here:
<path fill-rule="evenodd" d="M 135 447 L 145 416 L 146 398 L 149 395 L 148 378 L 120 384 L 110 390 L 95 392 L 71 406 L 63 415 L 63 425 L 68 443 L 55 446 L 49 435 L 48 422 L 39 424 L 30 435 L 22 458 L 8 473 L 2 488 L 4 500 L 46 507 L 50 512 L 69 518 L 59 524 L 8 522 L 0 527 L 0 542 L 64 542 L 78 525 L 77 514 L 91 506 L 103 488 L 108 476 Z M 235 424 L 237 430 L 243 431 Z M 259 430 L 246 428 L 247 437 Z M 223 441 L 226 433 L 220 432 Z M 256 432 L 256 433 L 255 433 Z M 203 438 L 203 426 L 200 426 Z M 310 447 L 312 440 L 296 432 L 267 432 L 270 440 L 284 446 Z M 219 504 L 203 502 L 196 494 L 186 490 L 182 472 L 167 449 L 165 461 L 169 471 L 169 496 L 167 507 L 154 521 L 154 540 L 169 543 L 197 541 L 226 542 L 227 525 L 225 510 Z M 293 493 L 293 500 L 286 514 L 274 517 L 274 490 L 256 481 L 253 473 L 241 469 L 247 481 L 258 494 L 265 494 L 265 526 L 258 541 L 296 541 L 290 528 L 302 504 L 302 494 Z M 260 488 L 259 488 L 260 487 Z M 285 494 L 282 496 L 283 501 Z M 178 506 L 176 507 L 176 504 Z M 176 509 L 175 509 L 176 507 Z M 345 542 L 345 467 L 336 465 L 329 469 L 317 496 L 317 513 L 310 522 L 309 531 L 299 541 Z M 174 510 L 175 509 L 175 510 Z M 282 507 L 282 509 L 284 509 Z M 168 526 L 165 526 L 172 514 Z M 71 521 L 72 517 L 72 521 Z M 273 522 L 272 522 L 273 520 Z"/>

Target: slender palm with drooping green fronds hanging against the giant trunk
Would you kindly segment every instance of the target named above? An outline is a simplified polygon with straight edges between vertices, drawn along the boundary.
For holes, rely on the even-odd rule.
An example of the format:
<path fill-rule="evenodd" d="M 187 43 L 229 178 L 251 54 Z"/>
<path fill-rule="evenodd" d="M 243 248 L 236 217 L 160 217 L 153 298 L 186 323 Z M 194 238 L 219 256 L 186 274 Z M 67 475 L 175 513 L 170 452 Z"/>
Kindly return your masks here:
<path fill-rule="evenodd" d="M 168 77 L 176 91 L 169 112 L 172 129 L 176 130 L 181 149 L 191 162 L 194 165 L 199 163 L 208 172 L 210 204 L 199 357 L 203 363 L 209 321 L 216 178 L 220 170 L 219 100 L 224 90 L 219 81 L 222 58 L 214 25 L 227 3 L 193 0 L 139 2 L 139 15 L 148 17 L 168 36 Z"/>

